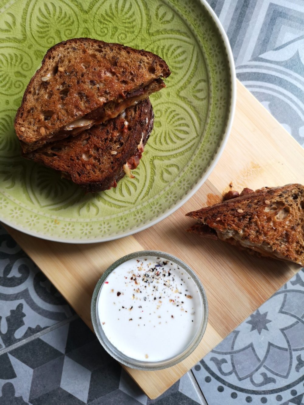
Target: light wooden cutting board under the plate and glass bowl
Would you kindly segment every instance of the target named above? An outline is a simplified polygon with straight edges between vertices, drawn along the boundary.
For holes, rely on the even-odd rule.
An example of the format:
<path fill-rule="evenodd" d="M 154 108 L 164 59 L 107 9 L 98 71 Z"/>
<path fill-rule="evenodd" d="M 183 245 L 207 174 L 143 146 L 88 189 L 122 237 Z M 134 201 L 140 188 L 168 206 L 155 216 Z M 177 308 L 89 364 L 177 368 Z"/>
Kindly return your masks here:
<path fill-rule="evenodd" d="M 259 259 L 223 242 L 185 232 L 185 213 L 217 202 L 244 187 L 304 183 L 304 150 L 238 82 L 235 119 L 227 147 L 208 181 L 183 207 L 158 224 L 116 241 L 73 245 L 49 242 L 8 228 L 90 328 L 94 286 L 107 267 L 125 254 L 158 249 L 184 260 L 199 275 L 209 302 L 206 333 L 186 360 L 161 371 L 127 369 L 150 398 L 156 398 L 285 283 L 299 267 Z M 169 339 L 176 339 L 169 336 Z"/>

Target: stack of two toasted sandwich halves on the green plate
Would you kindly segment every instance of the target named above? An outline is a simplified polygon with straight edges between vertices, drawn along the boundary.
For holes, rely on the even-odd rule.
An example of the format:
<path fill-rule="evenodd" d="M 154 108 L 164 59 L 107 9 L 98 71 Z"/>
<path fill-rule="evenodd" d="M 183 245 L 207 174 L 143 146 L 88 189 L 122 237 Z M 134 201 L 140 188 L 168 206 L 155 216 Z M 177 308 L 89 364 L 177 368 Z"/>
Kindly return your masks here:
<path fill-rule="evenodd" d="M 153 128 L 148 97 L 169 75 L 147 51 L 90 38 L 55 45 L 17 111 L 23 156 L 88 192 L 115 187 L 139 164 Z"/>

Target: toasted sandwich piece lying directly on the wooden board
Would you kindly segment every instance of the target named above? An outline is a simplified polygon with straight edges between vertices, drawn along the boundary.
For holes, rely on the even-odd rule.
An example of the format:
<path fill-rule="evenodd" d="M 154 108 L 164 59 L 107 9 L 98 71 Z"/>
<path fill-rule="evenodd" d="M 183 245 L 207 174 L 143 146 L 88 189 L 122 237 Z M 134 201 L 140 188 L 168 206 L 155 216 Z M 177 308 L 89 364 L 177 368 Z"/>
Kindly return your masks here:
<path fill-rule="evenodd" d="M 262 188 L 186 214 L 189 230 L 304 266 L 304 186 Z"/>

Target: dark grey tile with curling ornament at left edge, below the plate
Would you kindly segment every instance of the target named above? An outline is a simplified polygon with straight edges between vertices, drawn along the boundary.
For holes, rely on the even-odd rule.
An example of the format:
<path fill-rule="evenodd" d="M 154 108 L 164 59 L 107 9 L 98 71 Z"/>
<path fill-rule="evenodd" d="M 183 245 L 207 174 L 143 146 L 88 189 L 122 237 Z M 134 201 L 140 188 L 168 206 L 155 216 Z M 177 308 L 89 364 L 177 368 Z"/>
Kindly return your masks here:
<path fill-rule="evenodd" d="M 0 350 L 73 315 L 64 298 L 0 228 Z"/>

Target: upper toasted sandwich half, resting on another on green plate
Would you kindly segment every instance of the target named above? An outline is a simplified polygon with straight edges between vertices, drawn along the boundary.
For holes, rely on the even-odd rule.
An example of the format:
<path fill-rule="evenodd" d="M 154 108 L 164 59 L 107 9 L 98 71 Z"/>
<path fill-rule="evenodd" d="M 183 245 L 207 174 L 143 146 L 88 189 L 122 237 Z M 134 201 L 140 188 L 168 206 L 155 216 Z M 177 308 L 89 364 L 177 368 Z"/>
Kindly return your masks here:
<path fill-rule="evenodd" d="M 159 56 L 124 45 L 75 38 L 51 47 L 30 80 L 15 117 L 22 149 L 77 135 L 115 118 L 165 87 Z"/>

